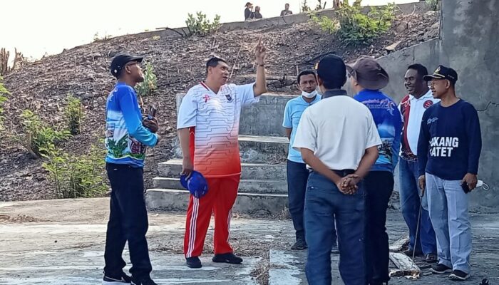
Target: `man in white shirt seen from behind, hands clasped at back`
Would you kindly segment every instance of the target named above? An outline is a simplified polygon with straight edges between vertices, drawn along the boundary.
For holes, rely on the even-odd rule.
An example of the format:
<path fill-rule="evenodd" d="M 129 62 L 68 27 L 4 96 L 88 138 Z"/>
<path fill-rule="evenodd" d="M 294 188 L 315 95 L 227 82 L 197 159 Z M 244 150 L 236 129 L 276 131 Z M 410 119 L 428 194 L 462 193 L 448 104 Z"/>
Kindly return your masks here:
<path fill-rule="evenodd" d="M 311 170 L 304 223 L 309 284 L 331 284 L 331 246 L 336 222 L 345 284 L 365 284 L 364 187 L 361 179 L 381 145 L 368 108 L 346 95 L 345 63 L 326 56 L 317 65 L 322 100 L 302 114 L 293 147 Z"/>

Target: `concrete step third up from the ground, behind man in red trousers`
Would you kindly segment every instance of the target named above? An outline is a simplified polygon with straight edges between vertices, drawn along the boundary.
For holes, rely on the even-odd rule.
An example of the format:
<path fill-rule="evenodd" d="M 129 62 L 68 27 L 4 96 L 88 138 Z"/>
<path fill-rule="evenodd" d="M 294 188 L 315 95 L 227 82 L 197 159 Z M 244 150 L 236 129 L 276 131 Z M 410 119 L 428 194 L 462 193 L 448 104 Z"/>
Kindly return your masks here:
<path fill-rule="evenodd" d="M 241 180 L 287 180 L 286 165 L 242 163 Z M 158 164 L 160 177 L 178 178 L 182 172 L 182 160 L 173 159 Z"/>

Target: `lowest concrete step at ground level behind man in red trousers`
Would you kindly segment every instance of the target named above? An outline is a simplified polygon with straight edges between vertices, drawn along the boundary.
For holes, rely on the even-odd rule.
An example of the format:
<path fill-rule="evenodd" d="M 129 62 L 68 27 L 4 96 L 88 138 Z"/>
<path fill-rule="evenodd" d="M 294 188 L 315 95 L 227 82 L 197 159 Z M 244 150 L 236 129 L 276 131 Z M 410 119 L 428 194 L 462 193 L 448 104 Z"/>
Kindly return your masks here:
<path fill-rule="evenodd" d="M 145 204 L 148 209 L 185 211 L 190 193 L 187 190 L 148 189 Z M 234 211 L 242 214 L 281 214 L 287 209 L 287 195 L 239 193 Z"/>

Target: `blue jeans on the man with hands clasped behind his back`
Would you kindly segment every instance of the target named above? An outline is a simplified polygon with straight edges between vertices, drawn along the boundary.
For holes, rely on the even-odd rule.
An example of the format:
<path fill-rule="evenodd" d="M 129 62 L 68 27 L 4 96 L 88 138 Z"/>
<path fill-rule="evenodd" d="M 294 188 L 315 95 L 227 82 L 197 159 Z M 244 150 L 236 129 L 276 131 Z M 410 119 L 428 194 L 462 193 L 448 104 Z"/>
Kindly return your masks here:
<path fill-rule="evenodd" d="M 344 176 L 344 175 L 341 175 Z M 331 285 L 331 246 L 334 222 L 339 245 L 339 273 L 345 285 L 364 285 L 364 187 L 344 195 L 318 172 L 311 172 L 305 195 L 305 233 L 309 252 L 307 280 L 311 285 Z"/>

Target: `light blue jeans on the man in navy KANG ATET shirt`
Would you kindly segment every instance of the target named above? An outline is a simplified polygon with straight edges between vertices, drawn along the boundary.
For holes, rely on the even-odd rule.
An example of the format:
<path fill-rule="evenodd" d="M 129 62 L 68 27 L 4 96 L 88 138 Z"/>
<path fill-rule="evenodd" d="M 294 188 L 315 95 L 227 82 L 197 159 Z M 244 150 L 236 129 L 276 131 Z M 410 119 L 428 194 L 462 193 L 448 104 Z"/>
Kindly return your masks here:
<path fill-rule="evenodd" d="M 438 263 L 470 273 L 471 224 L 468 195 L 461 180 L 443 180 L 426 173 L 428 208 L 435 227 Z"/>

